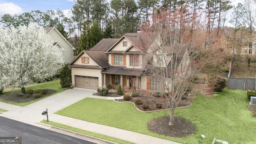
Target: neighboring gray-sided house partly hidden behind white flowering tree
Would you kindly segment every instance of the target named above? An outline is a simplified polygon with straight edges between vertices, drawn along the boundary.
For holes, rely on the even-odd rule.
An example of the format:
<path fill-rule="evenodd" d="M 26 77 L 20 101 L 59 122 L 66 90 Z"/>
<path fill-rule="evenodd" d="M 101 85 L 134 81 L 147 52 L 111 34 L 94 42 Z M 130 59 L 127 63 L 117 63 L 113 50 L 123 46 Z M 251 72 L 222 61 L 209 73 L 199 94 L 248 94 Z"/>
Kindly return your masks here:
<path fill-rule="evenodd" d="M 62 49 L 63 61 L 66 63 L 72 62 L 74 59 L 73 51 L 75 48 L 60 34 L 60 32 L 54 27 L 45 27 L 46 33 L 50 35 L 53 40 L 53 45 Z"/>

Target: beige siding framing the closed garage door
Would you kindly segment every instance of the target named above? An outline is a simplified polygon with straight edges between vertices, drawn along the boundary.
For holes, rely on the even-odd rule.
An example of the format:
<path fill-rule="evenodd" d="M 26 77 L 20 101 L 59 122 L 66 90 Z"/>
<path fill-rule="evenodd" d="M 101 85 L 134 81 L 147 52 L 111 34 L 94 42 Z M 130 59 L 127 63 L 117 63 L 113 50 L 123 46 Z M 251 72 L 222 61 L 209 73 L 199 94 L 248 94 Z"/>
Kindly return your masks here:
<path fill-rule="evenodd" d="M 99 87 L 103 86 L 103 75 L 100 73 L 101 69 L 92 68 L 71 68 L 72 85 L 75 85 L 75 75 L 78 76 L 93 76 L 99 78 Z"/>

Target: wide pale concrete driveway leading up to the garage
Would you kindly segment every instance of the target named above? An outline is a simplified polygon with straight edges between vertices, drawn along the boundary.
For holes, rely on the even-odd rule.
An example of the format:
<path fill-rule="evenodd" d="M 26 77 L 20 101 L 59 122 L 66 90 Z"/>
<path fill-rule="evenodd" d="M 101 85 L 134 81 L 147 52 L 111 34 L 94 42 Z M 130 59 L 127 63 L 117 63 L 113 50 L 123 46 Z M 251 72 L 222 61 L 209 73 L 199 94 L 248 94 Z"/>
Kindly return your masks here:
<path fill-rule="evenodd" d="M 50 116 L 54 112 L 70 106 L 86 97 L 92 97 L 92 94 L 96 92 L 96 90 L 72 88 L 24 107 L 6 104 L 6 110 L 9 111 L 4 112 L 4 114 L 29 120 L 31 122 L 40 122 L 46 118 L 46 116 L 42 115 L 42 112 L 45 111 L 46 108 L 48 109 L 48 116 Z"/>

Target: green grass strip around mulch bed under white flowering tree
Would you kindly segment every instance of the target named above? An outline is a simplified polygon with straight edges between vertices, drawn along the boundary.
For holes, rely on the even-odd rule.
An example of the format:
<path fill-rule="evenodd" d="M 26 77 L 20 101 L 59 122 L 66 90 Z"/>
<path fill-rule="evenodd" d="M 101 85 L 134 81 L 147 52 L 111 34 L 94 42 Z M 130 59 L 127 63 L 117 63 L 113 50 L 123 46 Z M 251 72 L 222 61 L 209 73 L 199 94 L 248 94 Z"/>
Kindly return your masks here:
<path fill-rule="evenodd" d="M 62 88 L 60 86 L 60 80 L 52 80 L 50 82 L 44 82 L 44 83 L 40 83 L 40 84 L 34 84 L 32 86 L 25 86 L 25 89 L 28 90 L 28 89 L 52 89 L 52 90 L 56 90 L 57 92 L 55 92 L 54 94 L 57 94 L 59 92 L 62 92 L 64 90 L 67 90 L 66 88 Z M 13 90 L 8 90 L 8 91 L 4 91 L 2 92 L 2 94 L 7 94 L 7 93 L 10 93 L 10 92 L 18 92 L 18 91 L 21 91 L 20 88 L 16 88 L 16 89 L 13 89 Z M 52 96 L 54 94 L 51 94 L 49 96 Z M 1 96 L 1 95 L 0 95 Z M 44 97 L 44 98 L 47 98 L 48 96 Z M 44 98 L 40 98 L 38 100 L 42 100 Z M 37 102 L 38 100 L 34 100 L 34 101 L 31 101 L 31 102 L 25 102 L 25 103 L 17 103 L 17 102 L 6 102 L 4 100 L 1 100 L 0 99 L 0 102 L 5 102 L 5 103 L 8 103 L 8 104 L 14 104 L 14 105 L 17 105 L 17 106 L 26 106 L 28 104 L 32 104 L 34 102 Z"/>

